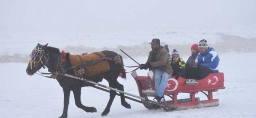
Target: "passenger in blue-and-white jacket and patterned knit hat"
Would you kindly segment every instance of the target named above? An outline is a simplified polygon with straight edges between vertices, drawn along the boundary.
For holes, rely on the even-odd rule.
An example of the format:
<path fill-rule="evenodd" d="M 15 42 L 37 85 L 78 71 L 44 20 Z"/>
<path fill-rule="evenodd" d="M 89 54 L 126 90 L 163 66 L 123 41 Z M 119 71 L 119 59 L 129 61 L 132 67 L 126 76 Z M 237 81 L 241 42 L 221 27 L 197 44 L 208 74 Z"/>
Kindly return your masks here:
<path fill-rule="evenodd" d="M 199 41 L 200 53 L 193 62 L 193 67 L 186 69 L 186 78 L 201 80 L 205 78 L 209 73 L 219 72 L 219 56 L 213 48 L 208 47 L 206 40 Z"/>

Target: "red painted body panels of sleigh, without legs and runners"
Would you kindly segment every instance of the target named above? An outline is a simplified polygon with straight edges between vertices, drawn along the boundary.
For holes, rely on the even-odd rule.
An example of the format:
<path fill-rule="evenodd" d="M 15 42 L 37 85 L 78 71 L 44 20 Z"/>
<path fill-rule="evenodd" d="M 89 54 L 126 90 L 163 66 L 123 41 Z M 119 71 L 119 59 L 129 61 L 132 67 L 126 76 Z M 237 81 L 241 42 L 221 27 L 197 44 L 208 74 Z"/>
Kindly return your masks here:
<path fill-rule="evenodd" d="M 137 85 L 143 90 L 152 89 L 155 90 L 153 80 L 149 77 L 138 76 L 135 78 Z M 206 78 L 199 80 L 198 85 L 186 85 L 185 78 L 179 77 L 178 80 L 170 78 L 168 80 L 167 87 L 165 88 L 165 94 L 173 94 L 177 92 L 198 92 L 198 91 L 213 91 L 217 89 L 224 89 L 224 74 L 223 73 L 211 73 Z"/>

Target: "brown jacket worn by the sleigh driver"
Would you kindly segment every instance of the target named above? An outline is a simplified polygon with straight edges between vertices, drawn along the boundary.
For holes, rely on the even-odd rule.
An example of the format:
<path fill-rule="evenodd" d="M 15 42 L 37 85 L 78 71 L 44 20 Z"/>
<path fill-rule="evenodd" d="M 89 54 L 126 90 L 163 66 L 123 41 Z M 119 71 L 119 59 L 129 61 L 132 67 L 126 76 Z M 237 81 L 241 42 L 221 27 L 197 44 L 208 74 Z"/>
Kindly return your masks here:
<path fill-rule="evenodd" d="M 162 71 L 167 72 L 168 74 L 171 74 L 172 67 L 170 65 L 169 55 L 167 50 L 163 46 L 160 46 L 160 48 L 157 50 L 156 62 L 151 62 L 152 54 L 153 54 L 153 51 L 150 51 L 149 57 L 147 59 L 147 62 L 150 62 L 151 64 L 150 69 L 154 71 L 154 69 L 158 68 Z"/>

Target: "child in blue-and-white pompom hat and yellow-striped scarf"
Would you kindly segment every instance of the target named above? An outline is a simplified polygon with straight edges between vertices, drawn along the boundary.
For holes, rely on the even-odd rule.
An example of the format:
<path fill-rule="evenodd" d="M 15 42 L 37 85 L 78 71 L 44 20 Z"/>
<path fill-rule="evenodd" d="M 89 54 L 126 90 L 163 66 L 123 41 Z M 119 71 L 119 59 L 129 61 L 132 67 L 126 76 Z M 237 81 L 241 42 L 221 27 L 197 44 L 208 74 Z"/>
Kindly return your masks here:
<path fill-rule="evenodd" d="M 171 66 L 173 70 L 172 76 L 175 76 L 175 79 L 179 77 L 185 78 L 185 62 L 176 49 L 173 49 L 172 52 Z"/>

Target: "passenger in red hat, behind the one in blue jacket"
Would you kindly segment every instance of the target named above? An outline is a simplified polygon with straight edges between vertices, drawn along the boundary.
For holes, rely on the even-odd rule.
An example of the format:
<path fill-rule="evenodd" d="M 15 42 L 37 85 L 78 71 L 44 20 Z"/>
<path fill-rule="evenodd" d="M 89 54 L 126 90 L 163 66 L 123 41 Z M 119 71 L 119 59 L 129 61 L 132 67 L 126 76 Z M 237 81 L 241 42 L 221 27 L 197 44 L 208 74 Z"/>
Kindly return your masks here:
<path fill-rule="evenodd" d="M 196 56 L 199 53 L 198 44 L 193 44 L 190 48 L 191 50 L 191 56 L 188 57 L 188 60 L 186 61 L 186 68 L 193 66 L 193 62 L 196 60 Z"/>

